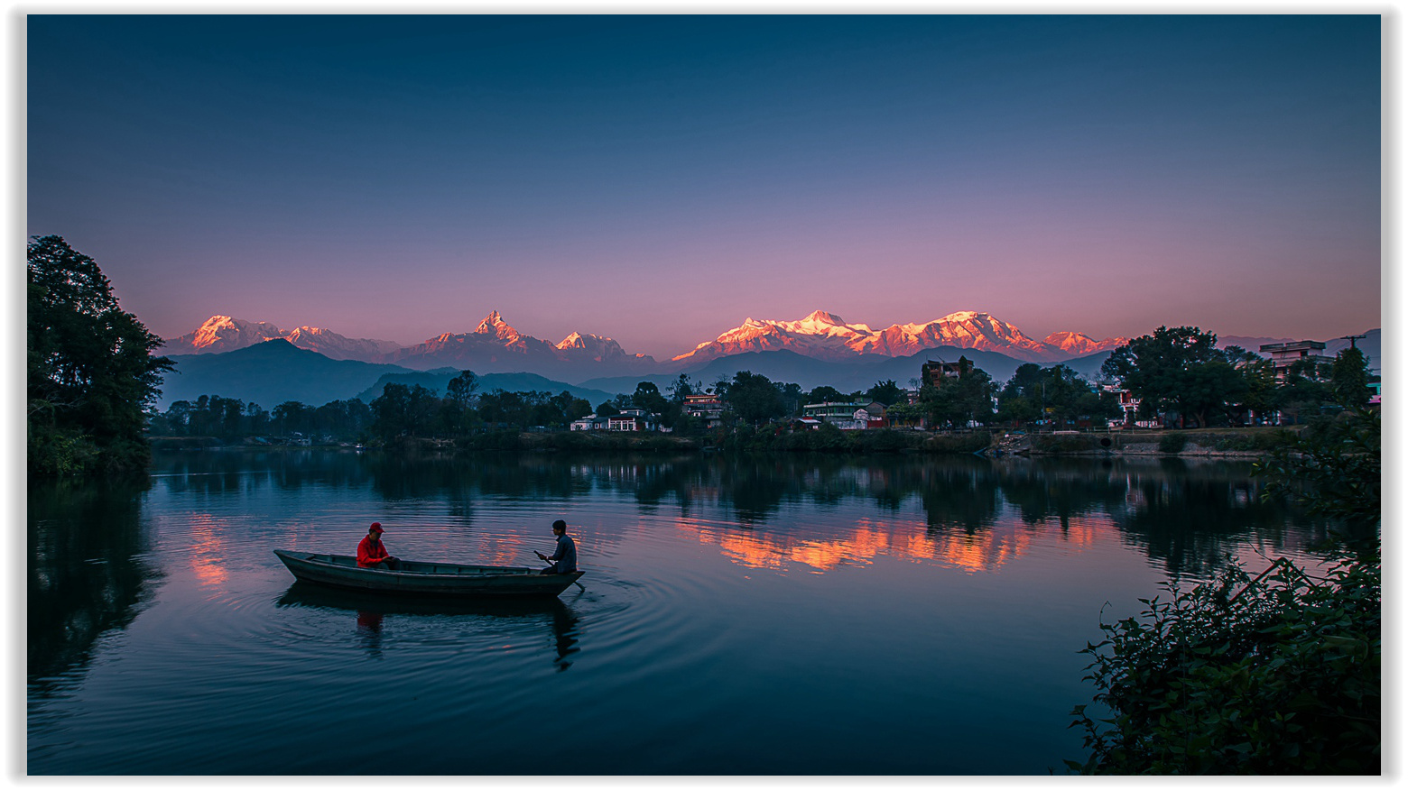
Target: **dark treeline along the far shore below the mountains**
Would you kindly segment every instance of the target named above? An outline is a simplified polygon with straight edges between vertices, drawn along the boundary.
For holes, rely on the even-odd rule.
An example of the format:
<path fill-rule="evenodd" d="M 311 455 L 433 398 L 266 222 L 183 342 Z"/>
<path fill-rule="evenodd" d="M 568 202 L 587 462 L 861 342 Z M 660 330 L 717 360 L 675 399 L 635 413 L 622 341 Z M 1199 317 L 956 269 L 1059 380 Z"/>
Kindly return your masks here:
<path fill-rule="evenodd" d="M 1332 364 L 1297 363 L 1278 378 L 1270 360 L 1235 346 L 1219 350 L 1215 342 L 1212 333 L 1195 328 L 1160 328 L 1118 349 L 1105 373 L 1140 399 L 1143 419 L 1167 427 L 1245 426 L 1271 422 L 1274 416 L 1302 422 L 1302 416 L 1318 417 L 1369 401 L 1367 363 L 1357 349 L 1342 351 Z M 722 432 L 705 430 L 704 420 L 684 410 L 686 399 L 694 394 L 719 398 Z M 903 436 L 859 436 L 870 432 L 839 432 L 834 426 L 804 432 L 791 422 L 805 413 L 805 405 L 822 402 L 879 402 L 887 408 L 890 426 L 929 430 L 994 426 L 1060 430 L 1101 426 L 1124 413 L 1115 394 L 1086 381 L 1070 367 L 1028 363 L 1001 387 L 986 371 L 963 365 L 957 375 L 939 384 L 924 381 L 912 402 L 894 381 L 855 392 L 834 387 L 803 391 L 797 384 L 739 371 L 708 388 L 684 374 L 665 392 L 642 381 L 631 395 L 593 406 L 567 391 L 479 392 L 477 375 L 466 370 L 449 381 L 444 395 L 422 385 L 387 384 L 370 403 L 352 399 L 311 406 L 289 401 L 269 412 L 258 403 L 203 395 L 193 402 L 177 401 L 163 413 L 152 412 L 149 419 L 153 436 L 230 441 L 301 434 L 320 441 L 391 443 L 458 441 L 500 432 L 566 432 L 573 420 L 587 415 L 642 409 L 663 430 L 725 448 L 869 451 L 921 448 L 924 443 Z"/>

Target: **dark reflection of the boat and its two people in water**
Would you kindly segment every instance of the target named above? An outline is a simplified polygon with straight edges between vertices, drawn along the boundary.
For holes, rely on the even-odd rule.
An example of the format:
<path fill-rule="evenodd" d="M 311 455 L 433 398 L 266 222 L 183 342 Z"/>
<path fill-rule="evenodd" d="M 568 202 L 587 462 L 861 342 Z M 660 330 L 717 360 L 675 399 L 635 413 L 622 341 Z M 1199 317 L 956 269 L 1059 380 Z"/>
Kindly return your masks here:
<path fill-rule="evenodd" d="M 339 590 L 304 582 L 294 582 L 279 600 L 279 607 L 313 607 L 341 611 L 349 616 L 351 634 L 367 658 L 384 658 L 384 631 L 394 628 L 398 619 L 453 617 L 482 620 L 486 623 L 520 623 L 522 630 L 543 627 L 551 634 L 553 665 L 559 672 L 572 666 L 574 654 L 580 652 L 580 616 L 562 599 L 417 599 L 383 596 L 356 590 Z M 393 626 L 387 626 L 390 617 Z"/>

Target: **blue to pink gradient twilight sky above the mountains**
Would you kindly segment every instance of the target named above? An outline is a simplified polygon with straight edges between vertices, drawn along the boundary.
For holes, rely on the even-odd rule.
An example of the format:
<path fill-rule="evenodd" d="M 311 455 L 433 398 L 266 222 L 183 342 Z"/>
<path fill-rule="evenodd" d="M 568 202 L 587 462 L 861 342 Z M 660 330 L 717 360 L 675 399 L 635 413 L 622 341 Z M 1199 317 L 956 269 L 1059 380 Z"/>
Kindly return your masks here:
<path fill-rule="evenodd" d="M 163 337 L 1381 323 L 1373 14 L 27 25 L 27 233 Z"/>

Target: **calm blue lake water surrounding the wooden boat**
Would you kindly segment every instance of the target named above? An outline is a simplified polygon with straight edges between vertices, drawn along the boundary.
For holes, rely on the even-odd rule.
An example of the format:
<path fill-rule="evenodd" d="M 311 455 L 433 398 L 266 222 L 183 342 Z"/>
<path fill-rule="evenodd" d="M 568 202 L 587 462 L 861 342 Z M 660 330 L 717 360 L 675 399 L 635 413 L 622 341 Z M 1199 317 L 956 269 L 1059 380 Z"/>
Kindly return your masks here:
<path fill-rule="evenodd" d="M 158 455 L 30 493 L 31 775 L 1045 775 L 1098 623 L 1319 527 L 1246 464 Z M 536 565 L 424 604 L 275 548 Z M 1104 607 L 1104 614 L 1101 609 Z"/>

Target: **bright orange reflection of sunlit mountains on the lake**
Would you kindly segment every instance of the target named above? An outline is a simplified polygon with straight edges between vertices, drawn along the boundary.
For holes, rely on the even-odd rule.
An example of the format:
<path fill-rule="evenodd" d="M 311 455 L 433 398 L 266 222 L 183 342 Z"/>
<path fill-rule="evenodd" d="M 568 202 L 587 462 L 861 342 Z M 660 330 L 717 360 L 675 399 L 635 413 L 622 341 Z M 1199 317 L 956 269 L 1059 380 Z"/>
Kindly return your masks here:
<path fill-rule="evenodd" d="M 839 536 L 818 538 L 719 529 L 717 523 L 693 519 L 681 519 L 677 524 L 746 568 L 788 571 L 805 566 L 811 572 L 872 565 L 879 557 L 939 562 L 969 572 L 994 571 L 1025 554 L 1038 537 L 1050 531 L 1024 526 L 967 533 L 934 530 L 918 523 L 860 520 Z M 1059 529 L 1064 543 L 1088 547 L 1105 527 L 1112 529 L 1112 524 L 1077 519 Z"/>

